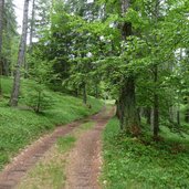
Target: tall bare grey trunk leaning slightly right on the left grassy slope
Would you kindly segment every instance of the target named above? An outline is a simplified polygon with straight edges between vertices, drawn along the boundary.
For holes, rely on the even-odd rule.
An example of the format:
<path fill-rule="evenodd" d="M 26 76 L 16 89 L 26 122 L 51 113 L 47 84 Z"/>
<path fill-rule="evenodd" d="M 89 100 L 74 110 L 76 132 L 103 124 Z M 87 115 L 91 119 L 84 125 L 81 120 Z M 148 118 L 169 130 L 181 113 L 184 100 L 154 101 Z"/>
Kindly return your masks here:
<path fill-rule="evenodd" d="M 18 106 L 18 102 L 19 102 L 21 66 L 24 61 L 25 45 L 27 45 L 28 12 L 29 12 L 29 0 L 25 0 L 24 10 L 23 10 L 22 35 L 19 46 L 18 63 L 14 71 L 13 88 L 9 102 L 10 106 Z"/>

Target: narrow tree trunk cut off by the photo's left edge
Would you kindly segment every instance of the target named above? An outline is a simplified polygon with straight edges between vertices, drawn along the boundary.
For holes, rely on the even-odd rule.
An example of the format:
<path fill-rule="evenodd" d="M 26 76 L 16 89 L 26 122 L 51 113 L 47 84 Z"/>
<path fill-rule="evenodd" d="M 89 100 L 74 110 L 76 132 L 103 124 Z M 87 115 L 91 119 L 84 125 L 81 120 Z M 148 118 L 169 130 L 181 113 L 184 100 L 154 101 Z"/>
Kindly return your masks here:
<path fill-rule="evenodd" d="M 3 9 L 4 0 L 0 0 L 0 95 L 2 95 L 1 75 L 2 75 L 2 32 L 3 32 Z"/>

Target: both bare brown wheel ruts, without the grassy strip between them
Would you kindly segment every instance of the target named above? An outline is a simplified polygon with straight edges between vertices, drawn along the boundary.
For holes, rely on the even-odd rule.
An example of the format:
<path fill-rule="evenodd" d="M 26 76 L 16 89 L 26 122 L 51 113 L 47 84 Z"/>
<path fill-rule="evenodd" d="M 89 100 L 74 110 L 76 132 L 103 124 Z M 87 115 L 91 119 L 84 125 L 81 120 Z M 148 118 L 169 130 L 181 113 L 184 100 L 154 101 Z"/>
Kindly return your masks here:
<path fill-rule="evenodd" d="M 55 144 L 59 137 L 70 134 L 74 130 L 74 128 L 91 120 L 95 122 L 95 128 L 83 134 L 83 136 L 80 137 L 76 147 L 71 153 L 71 160 L 67 167 L 66 188 L 97 189 L 101 132 L 112 115 L 113 111 L 108 111 L 107 113 L 106 109 L 103 109 L 96 115 L 73 122 L 63 127 L 57 127 L 52 134 L 41 137 L 39 140 L 25 148 L 20 155 L 18 155 L 13 161 L 0 172 L 0 189 L 15 188 L 23 176 L 25 176 L 27 172 L 44 156 L 44 154 Z M 72 161 L 75 162 L 72 165 Z M 73 174 L 73 171 L 75 174 Z M 88 176 L 84 177 L 86 174 Z M 78 182 L 78 186 L 76 186 L 75 181 Z M 83 182 L 84 187 L 81 186 L 81 182 Z M 90 187 L 90 185 L 94 187 Z"/>

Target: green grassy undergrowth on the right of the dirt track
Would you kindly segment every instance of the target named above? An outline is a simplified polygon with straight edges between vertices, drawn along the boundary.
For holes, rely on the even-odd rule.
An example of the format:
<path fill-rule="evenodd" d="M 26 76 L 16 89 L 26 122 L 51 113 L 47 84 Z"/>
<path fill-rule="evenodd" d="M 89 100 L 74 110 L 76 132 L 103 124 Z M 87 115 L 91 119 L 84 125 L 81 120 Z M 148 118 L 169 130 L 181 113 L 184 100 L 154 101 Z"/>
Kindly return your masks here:
<path fill-rule="evenodd" d="M 189 136 L 169 130 L 158 144 L 150 136 L 130 138 L 113 118 L 104 130 L 103 188 L 175 189 L 189 186 Z"/>

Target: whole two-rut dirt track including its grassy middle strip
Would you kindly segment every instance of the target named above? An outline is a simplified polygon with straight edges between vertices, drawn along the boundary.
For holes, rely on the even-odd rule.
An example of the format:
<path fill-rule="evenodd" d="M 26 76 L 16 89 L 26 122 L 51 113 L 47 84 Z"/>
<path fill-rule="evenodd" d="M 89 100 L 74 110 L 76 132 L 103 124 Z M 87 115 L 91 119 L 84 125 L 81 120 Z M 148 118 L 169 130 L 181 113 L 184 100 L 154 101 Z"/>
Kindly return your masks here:
<path fill-rule="evenodd" d="M 24 149 L 3 169 L 0 174 L 0 189 L 25 187 L 41 189 L 56 189 L 62 187 L 67 189 L 98 188 L 97 177 L 101 167 L 101 133 L 112 115 L 113 111 L 107 108 L 88 118 L 73 122 L 64 127 L 59 127 L 52 134 L 41 137 L 29 148 Z M 73 140 L 76 141 L 70 151 L 66 151 L 66 154 L 62 153 L 62 150 L 60 150 L 61 154 L 55 151 L 56 144 L 61 137 L 65 137 L 67 134 L 70 135 L 76 129 L 76 127 L 82 125 L 93 125 L 91 123 L 94 124 L 92 128 L 87 130 L 84 129 L 82 133 L 80 132 L 81 134 L 76 135 L 76 138 L 74 136 L 75 139 Z M 72 137 L 70 137 L 70 139 L 72 140 Z M 66 138 L 63 138 L 63 143 L 64 141 L 66 141 Z M 64 143 L 64 145 L 66 143 Z M 59 165 L 60 159 L 61 162 L 66 164 Z M 48 161 L 51 161 L 51 164 Z M 41 180 L 45 181 L 43 177 L 43 175 L 46 175 L 45 166 L 48 165 L 45 165 L 45 162 L 52 168 L 50 169 L 50 174 L 53 172 L 52 170 L 55 170 L 55 178 L 59 178 L 57 175 L 61 172 L 60 179 L 56 179 L 57 182 L 62 179 L 61 183 L 56 185 L 54 180 L 46 185 L 36 183 L 39 182 L 40 176 L 42 177 Z M 38 172 L 38 164 L 39 166 L 44 164 L 43 174 Z M 55 169 L 52 164 L 59 166 L 59 168 Z M 64 170 L 60 170 L 60 168 Z M 32 172 L 34 172 L 34 175 L 32 175 Z M 53 179 L 53 177 L 51 178 Z"/>

